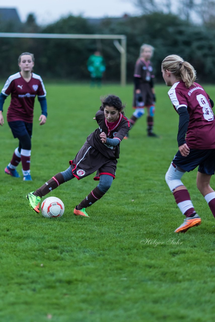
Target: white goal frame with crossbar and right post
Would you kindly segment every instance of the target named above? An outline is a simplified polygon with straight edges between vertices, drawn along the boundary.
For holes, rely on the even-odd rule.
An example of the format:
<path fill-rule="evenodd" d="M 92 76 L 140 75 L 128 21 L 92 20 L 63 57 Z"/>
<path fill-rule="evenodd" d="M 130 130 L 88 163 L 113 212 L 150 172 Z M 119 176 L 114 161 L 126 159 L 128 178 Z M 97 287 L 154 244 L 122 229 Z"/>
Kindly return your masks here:
<path fill-rule="evenodd" d="M 114 46 L 121 54 L 120 59 L 120 83 L 126 85 L 126 43 L 125 35 L 103 34 L 67 34 L 67 33 L 0 33 L 5 38 L 55 38 L 55 39 L 112 39 Z M 121 43 L 119 43 L 121 40 Z"/>

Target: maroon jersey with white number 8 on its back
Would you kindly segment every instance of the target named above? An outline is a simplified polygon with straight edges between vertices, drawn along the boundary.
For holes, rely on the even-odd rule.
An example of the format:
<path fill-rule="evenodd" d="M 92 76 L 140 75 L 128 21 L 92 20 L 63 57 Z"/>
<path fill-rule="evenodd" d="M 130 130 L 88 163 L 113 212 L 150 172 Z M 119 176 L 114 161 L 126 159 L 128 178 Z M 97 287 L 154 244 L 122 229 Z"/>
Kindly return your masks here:
<path fill-rule="evenodd" d="M 192 149 L 215 148 L 215 119 L 211 109 L 209 95 L 201 85 L 194 83 L 186 88 L 183 81 L 173 84 L 168 91 L 174 109 L 186 107 L 190 121 L 186 134 L 186 143 Z"/>

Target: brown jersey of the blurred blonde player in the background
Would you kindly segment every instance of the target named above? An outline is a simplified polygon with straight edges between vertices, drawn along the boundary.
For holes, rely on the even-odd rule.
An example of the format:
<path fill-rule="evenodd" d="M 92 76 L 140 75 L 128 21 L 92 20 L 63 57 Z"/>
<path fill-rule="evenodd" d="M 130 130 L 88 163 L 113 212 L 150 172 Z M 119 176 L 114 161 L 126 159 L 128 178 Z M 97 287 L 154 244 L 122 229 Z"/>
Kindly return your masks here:
<path fill-rule="evenodd" d="M 150 82 L 151 78 L 154 78 L 151 62 L 145 62 L 143 58 L 139 58 L 134 67 L 134 77 L 140 78 L 142 83 Z"/>

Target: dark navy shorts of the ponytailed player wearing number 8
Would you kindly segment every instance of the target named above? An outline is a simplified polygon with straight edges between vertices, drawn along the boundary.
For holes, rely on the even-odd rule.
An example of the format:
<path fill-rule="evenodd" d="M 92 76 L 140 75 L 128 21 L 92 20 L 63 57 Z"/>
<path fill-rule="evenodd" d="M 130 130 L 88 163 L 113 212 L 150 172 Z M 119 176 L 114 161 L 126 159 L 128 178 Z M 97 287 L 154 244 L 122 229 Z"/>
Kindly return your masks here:
<path fill-rule="evenodd" d="M 200 173 L 214 175 L 215 173 L 215 149 L 199 150 L 190 149 L 188 156 L 182 156 L 180 151 L 176 153 L 172 162 L 184 171 L 190 172 L 197 166 Z"/>

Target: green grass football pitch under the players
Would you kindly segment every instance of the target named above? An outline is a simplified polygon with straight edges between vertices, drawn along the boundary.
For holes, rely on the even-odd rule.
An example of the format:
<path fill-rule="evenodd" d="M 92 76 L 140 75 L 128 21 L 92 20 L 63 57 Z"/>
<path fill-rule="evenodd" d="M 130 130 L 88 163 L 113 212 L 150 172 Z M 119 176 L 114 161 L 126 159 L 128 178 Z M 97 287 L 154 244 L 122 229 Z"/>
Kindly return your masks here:
<path fill-rule="evenodd" d="M 1 88 L 3 83 L 0 84 Z M 62 218 L 31 210 L 25 195 L 68 167 L 97 126 L 100 96 L 116 94 L 131 116 L 132 85 L 45 84 L 48 119 L 39 126 L 35 104 L 32 182 L 5 175 L 17 141 L 0 128 L 0 321 L 2 322 L 212 322 L 215 220 L 196 188 L 197 170 L 183 176 L 199 227 L 175 234 L 183 216 L 165 182 L 177 152 L 178 116 L 168 88 L 156 86 L 155 133 L 143 116 L 121 143 L 116 179 L 102 200 L 73 209 L 96 185 L 73 179 L 52 192 L 65 205 Z M 205 86 L 215 99 L 214 86 Z M 17 168 L 22 174 L 21 165 Z M 215 186 L 214 178 L 211 180 Z"/>

